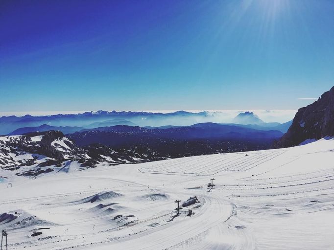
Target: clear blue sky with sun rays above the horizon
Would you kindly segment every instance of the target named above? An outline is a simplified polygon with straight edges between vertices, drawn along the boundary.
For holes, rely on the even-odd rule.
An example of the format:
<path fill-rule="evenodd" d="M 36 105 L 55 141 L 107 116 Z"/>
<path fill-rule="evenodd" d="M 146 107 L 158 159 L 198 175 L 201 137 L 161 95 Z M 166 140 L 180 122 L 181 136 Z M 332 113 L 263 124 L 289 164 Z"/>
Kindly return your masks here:
<path fill-rule="evenodd" d="M 334 1 L 0 2 L 0 112 L 298 109 L 334 85 Z"/>

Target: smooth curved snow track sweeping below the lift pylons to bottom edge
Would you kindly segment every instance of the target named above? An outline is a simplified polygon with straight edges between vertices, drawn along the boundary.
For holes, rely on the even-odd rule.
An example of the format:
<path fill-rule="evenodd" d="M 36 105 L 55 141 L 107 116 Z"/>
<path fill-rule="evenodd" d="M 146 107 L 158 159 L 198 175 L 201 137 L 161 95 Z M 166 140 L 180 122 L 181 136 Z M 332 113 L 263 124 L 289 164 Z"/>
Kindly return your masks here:
<path fill-rule="evenodd" d="M 153 230 L 138 233 L 117 242 L 98 244 L 98 249 L 168 249 L 224 223 L 232 216 L 233 205 L 227 204 L 217 195 L 207 193 L 204 195 L 204 199 L 205 204 L 203 205 L 203 209 L 191 217 L 176 217 L 167 225 L 157 227 Z M 79 249 L 90 249 L 90 247 L 87 246 Z"/>

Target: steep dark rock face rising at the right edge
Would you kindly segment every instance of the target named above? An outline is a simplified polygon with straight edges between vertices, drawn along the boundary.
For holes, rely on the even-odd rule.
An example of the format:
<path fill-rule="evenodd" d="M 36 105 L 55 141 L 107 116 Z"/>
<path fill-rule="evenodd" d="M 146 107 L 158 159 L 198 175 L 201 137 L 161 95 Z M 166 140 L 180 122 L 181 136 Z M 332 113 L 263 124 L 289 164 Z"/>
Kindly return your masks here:
<path fill-rule="evenodd" d="M 296 146 L 307 139 L 334 136 L 334 87 L 321 97 L 298 110 L 293 122 L 275 148 Z"/>

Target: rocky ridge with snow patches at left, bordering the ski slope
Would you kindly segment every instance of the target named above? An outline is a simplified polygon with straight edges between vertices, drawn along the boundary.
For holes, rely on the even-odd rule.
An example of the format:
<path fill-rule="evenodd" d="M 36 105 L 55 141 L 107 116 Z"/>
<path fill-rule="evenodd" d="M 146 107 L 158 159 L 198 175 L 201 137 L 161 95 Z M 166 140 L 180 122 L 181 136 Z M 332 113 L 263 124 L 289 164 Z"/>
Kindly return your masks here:
<path fill-rule="evenodd" d="M 148 154 L 135 151 L 117 152 L 104 145 L 81 148 L 60 131 L 33 132 L 24 136 L 0 136 L 0 168 L 18 175 L 39 175 L 59 171 L 73 161 L 81 168 L 100 163 L 117 165 L 166 159 L 152 150 Z"/>

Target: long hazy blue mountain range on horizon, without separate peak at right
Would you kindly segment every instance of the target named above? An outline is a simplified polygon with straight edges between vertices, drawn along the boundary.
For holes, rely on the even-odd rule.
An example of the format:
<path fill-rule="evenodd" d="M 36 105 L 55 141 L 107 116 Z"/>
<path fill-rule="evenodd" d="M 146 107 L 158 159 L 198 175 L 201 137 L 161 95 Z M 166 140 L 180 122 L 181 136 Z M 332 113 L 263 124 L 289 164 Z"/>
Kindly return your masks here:
<path fill-rule="evenodd" d="M 125 112 L 125 111 L 102 111 L 85 112 L 82 114 L 55 114 L 45 116 L 2 116 L 0 117 L 0 135 L 6 135 L 16 129 L 23 127 L 38 127 L 43 124 L 49 126 L 71 126 L 71 127 L 99 127 L 104 125 L 136 125 L 140 126 L 162 126 L 178 123 L 178 125 L 189 125 L 197 121 L 212 117 L 208 112 L 191 113 L 177 111 L 173 113 L 150 113 L 150 112 Z M 105 122 L 106 124 L 99 124 Z"/>

